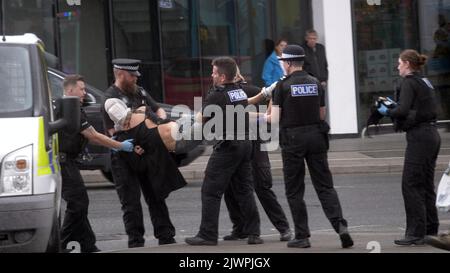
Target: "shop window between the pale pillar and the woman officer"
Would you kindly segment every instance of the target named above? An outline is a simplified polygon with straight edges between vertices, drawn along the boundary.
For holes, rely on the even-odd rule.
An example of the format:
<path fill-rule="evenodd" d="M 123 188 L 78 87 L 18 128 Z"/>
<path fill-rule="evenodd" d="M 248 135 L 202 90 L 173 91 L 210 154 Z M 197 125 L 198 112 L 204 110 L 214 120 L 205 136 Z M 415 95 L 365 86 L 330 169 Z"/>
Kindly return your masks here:
<path fill-rule="evenodd" d="M 392 96 L 399 76 L 398 57 L 405 48 L 419 48 L 417 1 L 353 0 L 359 124 L 365 126 L 379 96 Z M 383 119 L 384 122 L 390 122 Z"/>

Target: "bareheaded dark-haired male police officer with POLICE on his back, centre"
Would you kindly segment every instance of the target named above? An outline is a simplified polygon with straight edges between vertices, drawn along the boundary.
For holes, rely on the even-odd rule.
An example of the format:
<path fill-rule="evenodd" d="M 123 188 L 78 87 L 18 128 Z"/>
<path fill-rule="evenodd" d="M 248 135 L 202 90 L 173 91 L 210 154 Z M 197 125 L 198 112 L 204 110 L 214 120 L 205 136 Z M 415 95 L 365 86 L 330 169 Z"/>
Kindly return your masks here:
<path fill-rule="evenodd" d="M 215 134 L 221 141 L 214 146 L 205 171 L 202 185 L 202 220 L 200 230 L 195 237 L 186 238 L 189 245 L 217 245 L 219 212 L 222 195 L 230 183 L 234 185 L 236 200 L 244 215 L 243 234 L 248 235 L 248 244 L 262 244 L 260 235 L 260 220 L 253 195 L 251 176 L 252 143 L 248 139 L 248 114 L 245 119 L 238 113 L 230 113 L 230 108 L 247 106 L 247 95 L 242 88 L 234 83 L 236 76 L 236 62 L 229 57 L 213 60 L 212 78 L 214 89 L 206 98 L 203 116 L 199 119 L 207 121 L 207 112 L 220 107 L 223 119 L 222 126 L 216 124 Z M 211 108 L 215 106 L 215 108 Z M 230 107 L 231 106 L 231 107 Z M 238 107 L 239 109 L 239 107 Z M 214 110 L 213 110 L 214 111 Z M 233 111 L 234 112 L 234 111 Z M 212 119 L 216 119 L 213 112 Z M 234 119 L 235 126 L 227 122 L 227 116 Z M 229 119 L 230 117 L 228 117 Z M 243 131 L 238 130 L 239 125 L 245 123 Z M 238 125 L 239 124 L 239 125 Z M 219 129 L 223 127 L 223 131 Z"/>

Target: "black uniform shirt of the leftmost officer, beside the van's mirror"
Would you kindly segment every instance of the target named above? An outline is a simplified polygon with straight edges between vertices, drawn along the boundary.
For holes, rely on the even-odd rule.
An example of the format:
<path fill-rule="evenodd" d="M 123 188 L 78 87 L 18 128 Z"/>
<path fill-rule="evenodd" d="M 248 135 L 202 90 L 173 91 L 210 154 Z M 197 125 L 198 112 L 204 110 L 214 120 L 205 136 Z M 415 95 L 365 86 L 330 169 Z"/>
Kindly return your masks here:
<path fill-rule="evenodd" d="M 80 131 L 76 134 L 68 134 L 62 131 L 59 134 L 59 150 L 67 154 L 69 158 L 76 158 L 87 144 L 87 139 L 81 134 L 84 130 L 91 127 L 87 120 L 86 113 L 80 108 Z"/>

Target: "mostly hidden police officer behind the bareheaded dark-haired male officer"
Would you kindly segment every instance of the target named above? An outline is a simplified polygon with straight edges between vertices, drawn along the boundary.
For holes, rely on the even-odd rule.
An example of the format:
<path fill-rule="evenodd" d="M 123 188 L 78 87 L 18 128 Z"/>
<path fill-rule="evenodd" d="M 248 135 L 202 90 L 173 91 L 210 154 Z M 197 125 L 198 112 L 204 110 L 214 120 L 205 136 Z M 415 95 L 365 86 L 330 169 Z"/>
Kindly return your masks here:
<path fill-rule="evenodd" d="M 249 98 L 258 97 L 263 99 L 261 95 L 261 88 L 248 84 L 245 78 L 240 74 L 239 68 L 236 76 L 236 83 L 244 90 Z M 270 87 L 268 87 L 270 88 Z M 263 89 L 268 89 L 263 88 Z M 250 100 L 249 100 L 250 102 Z M 277 200 L 277 196 L 272 190 L 272 172 L 269 161 L 269 154 L 267 151 L 262 150 L 262 141 L 257 134 L 257 140 L 253 143 L 253 155 L 252 155 L 252 175 L 255 187 L 256 196 L 258 197 L 261 205 L 264 208 L 269 220 L 280 232 L 280 241 L 289 241 L 291 239 L 291 230 L 289 228 L 289 222 L 286 215 Z M 225 192 L 225 203 L 230 214 L 230 219 L 233 222 L 233 230 L 231 234 L 223 237 L 225 241 L 233 241 L 246 238 L 245 234 L 242 234 L 244 216 L 239 208 L 239 202 L 237 202 L 235 194 L 233 193 L 233 184 Z"/>

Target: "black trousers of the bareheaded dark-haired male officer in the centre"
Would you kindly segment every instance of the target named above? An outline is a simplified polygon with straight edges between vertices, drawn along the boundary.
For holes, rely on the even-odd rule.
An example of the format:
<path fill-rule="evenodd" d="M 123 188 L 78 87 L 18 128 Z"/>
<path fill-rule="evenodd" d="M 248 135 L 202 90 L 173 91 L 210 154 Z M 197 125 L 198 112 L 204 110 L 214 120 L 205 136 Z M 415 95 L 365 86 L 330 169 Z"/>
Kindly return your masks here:
<path fill-rule="evenodd" d="M 260 235 L 260 219 L 253 195 L 251 154 L 250 141 L 225 141 L 214 147 L 202 186 L 202 220 L 197 236 L 217 241 L 220 203 L 230 183 L 244 215 L 242 232 Z"/>

